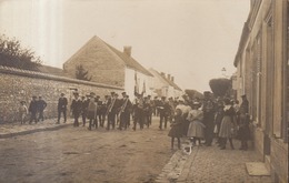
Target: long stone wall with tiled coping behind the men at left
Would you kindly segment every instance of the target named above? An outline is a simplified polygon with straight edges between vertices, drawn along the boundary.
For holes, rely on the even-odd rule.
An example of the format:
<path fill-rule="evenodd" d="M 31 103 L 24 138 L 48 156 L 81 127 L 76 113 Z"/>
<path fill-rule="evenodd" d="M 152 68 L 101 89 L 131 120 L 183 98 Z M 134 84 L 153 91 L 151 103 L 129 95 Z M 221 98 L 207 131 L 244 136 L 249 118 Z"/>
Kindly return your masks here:
<path fill-rule="evenodd" d="M 76 89 L 80 95 L 94 92 L 101 99 L 111 91 L 123 91 L 118 87 L 4 67 L 0 67 L 0 123 L 19 121 L 20 101 L 26 101 L 29 106 L 32 95 L 41 95 L 47 101 L 46 118 L 56 118 L 61 92 L 66 93 L 70 104 Z"/>

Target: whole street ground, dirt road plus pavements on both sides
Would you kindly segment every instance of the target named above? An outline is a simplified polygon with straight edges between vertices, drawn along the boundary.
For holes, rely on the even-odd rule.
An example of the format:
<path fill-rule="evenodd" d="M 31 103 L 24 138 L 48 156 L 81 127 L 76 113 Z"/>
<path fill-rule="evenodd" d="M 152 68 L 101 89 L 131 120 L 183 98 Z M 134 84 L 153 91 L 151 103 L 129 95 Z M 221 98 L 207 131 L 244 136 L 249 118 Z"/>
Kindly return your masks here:
<path fill-rule="evenodd" d="M 71 123 L 54 124 L 54 120 L 1 126 L 0 182 L 271 182 L 270 176 L 248 174 L 246 162 L 261 161 L 251 148 L 222 151 L 216 144 L 202 145 L 193 146 L 191 154 L 177 145 L 170 150 L 169 129 L 158 130 L 158 121 L 153 118 L 152 125 L 141 131 L 88 131 Z M 31 133 L 40 128 L 51 129 Z"/>

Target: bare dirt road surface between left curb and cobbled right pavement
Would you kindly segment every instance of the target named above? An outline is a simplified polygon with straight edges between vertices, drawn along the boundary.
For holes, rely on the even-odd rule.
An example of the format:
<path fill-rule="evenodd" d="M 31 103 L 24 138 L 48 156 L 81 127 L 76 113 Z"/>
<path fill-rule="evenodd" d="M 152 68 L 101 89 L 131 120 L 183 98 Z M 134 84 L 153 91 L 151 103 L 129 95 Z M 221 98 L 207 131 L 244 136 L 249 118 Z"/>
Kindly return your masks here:
<path fill-rule="evenodd" d="M 155 182 L 175 151 L 168 130 L 61 129 L 0 140 L 0 182 Z"/>

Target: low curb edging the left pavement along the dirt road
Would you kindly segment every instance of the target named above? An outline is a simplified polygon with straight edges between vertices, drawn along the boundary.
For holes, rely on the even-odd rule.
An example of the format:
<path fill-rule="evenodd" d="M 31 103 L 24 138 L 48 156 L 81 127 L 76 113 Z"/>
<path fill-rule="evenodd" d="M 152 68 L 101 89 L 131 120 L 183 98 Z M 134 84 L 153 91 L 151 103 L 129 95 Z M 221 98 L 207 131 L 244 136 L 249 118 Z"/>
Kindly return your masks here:
<path fill-rule="evenodd" d="M 6 134 L 0 134 L 0 139 L 7 139 L 7 138 L 13 138 L 18 135 L 26 135 L 26 134 L 31 134 L 31 133 L 37 133 L 37 132 L 43 132 L 43 131 L 53 131 L 53 130 L 59 130 L 69 126 L 71 123 L 66 123 L 66 124 L 57 124 L 54 126 L 49 126 L 49 128 L 40 128 L 40 129 L 32 129 L 32 130 L 27 130 L 27 131 L 20 131 L 20 132 L 13 132 L 13 133 L 6 133 Z"/>

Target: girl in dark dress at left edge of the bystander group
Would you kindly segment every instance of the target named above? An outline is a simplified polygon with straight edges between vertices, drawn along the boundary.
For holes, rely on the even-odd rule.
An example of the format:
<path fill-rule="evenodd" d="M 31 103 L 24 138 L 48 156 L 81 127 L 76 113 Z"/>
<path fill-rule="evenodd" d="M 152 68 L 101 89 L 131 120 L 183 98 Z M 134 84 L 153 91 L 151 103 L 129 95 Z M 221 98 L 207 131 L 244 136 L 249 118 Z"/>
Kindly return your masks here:
<path fill-rule="evenodd" d="M 181 115 L 181 110 L 177 109 L 171 123 L 171 129 L 168 134 L 169 136 L 171 136 L 171 150 L 173 150 L 175 138 L 178 139 L 178 149 L 180 150 L 180 138 L 182 136 L 182 123 L 183 123 L 183 118 Z"/>

